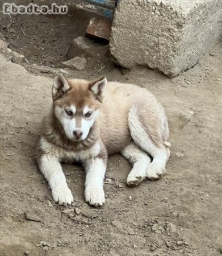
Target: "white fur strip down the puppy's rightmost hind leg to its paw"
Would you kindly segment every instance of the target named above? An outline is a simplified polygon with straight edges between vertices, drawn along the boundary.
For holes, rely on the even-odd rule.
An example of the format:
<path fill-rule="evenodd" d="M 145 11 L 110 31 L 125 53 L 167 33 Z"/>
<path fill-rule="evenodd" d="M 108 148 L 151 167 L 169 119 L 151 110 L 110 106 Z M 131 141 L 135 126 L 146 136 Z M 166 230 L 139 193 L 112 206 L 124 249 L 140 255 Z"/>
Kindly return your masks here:
<path fill-rule="evenodd" d="M 148 179 L 158 179 L 165 171 L 165 166 L 169 159 L 169 152 L 166 148 L 158 148 L 150 141 L 137 117 L 136 106 L 133 106 L 129 110 L 128 123 L 133 141 L 153 157 L 153 161 L 146 171 Z"/>

